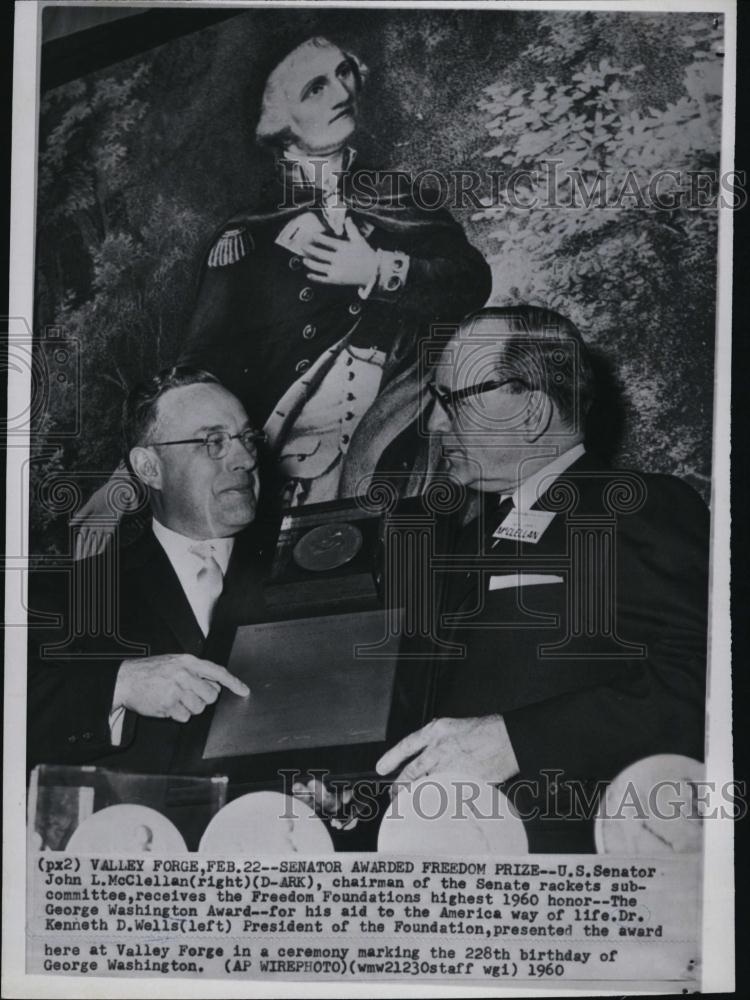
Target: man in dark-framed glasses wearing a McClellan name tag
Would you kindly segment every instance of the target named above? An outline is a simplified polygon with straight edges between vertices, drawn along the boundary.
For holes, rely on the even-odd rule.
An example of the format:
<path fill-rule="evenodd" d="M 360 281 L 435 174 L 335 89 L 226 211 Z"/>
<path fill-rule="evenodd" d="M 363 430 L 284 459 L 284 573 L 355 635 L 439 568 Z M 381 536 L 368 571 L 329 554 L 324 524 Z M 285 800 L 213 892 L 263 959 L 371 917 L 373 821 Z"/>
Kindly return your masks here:
<path fill-rule="evenodd" d="M 430 430 L 475 503 L 438 546 L 431 721 L 399 730 L 424 690 L 405 658 L 378 770 L 502 783 L 532 851 L 593 851 L 606 782 L 653 754 L 703 757 L 708 511 L 678 479 L 586 451 L 590 359 L 551 310 L 466 320 L 431 388 Z"/>

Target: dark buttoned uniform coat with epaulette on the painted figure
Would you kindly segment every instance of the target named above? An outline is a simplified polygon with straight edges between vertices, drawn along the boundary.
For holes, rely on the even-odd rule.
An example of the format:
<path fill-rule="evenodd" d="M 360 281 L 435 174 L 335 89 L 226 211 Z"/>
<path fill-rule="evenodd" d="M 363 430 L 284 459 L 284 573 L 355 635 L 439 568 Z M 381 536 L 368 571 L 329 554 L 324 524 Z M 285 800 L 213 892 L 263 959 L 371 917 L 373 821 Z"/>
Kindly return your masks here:
<path fill-rule="evenodd" d="M 363 300 L 357 288 L 308 280 L 302 257 L 275 241 L 290 220 L 306 212 L 325 226 L 322 195 L 297 184 L 290 205 L 291 187 L 277 181 L 259 208 L 234 216 L 214 236 L 180 357 L 180 363 L 216 374 L 263 425 L 289 387 L 334 345 L 385 352 L 380 395 L 353 440 L 345 442 L 343 496 L 351 495 L 352 483 L 372 471 L 417 416 L 419 340 L 429 335 L 431 324 L 455 324 L 480 308 L 491 290 L 486 261 L 450 214 L 420 208 L 391 187 L 364 198 L 344 185 L 343 195 L 374 249 L 409 256 L 404 282 L 378 285 Z M 278 448 L 284 428 L 292 426 L 328 368 L 317 367 L 305 393 L 282 415 Z"/>

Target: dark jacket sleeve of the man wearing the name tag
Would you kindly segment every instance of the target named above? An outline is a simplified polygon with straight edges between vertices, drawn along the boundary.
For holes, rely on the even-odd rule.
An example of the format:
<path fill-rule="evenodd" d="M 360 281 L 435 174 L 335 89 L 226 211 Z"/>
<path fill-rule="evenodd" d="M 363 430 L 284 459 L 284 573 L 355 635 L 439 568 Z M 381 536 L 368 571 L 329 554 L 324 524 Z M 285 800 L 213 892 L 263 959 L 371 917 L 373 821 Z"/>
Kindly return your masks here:
<path fill-rule="evenodd" d="M 708 532 L 690 487 L 649 478 L 645 506 L 621 516 L 616 553 L 618 631 L 646 656 L 606 684 L 507 712 L 522 775 L 610 778 L 656 753 L 702 759 Z"/>

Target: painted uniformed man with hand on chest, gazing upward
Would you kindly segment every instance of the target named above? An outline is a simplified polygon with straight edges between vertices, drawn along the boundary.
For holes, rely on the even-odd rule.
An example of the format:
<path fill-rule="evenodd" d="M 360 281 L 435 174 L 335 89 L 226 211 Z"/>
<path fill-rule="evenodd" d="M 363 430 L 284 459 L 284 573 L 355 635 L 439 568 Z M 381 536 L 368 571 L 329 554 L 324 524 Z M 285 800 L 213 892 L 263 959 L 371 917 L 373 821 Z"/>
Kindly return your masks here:
<path fill-rule="evenodd" d="M 357 159 L 355 55 L 315 36 L 269 40 L 266 56 L 256 140 L 273 174 L 211 238 L 178 364 L 212 372 L 263 424 L 269 508 L 353 497 L 376 469 L 408 495 L 424 471 L 417 345 L 484 304 L 490 268 L 439 191 L 418 204 L 408 175 Z M 123 471 L 76 513 L 80 553 L 100 544 Z"/>

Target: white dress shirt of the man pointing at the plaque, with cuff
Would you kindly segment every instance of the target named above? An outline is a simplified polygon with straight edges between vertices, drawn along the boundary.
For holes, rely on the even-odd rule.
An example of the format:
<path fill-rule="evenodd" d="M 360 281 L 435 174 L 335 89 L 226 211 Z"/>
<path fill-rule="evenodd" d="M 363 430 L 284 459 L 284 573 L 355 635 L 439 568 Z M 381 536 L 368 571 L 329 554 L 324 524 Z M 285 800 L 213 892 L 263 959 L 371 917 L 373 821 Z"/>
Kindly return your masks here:
<path fill-rule="evenodd" d="M 205 560 L 191 549 L 196 545 L 196 539 L 180 535 L 171 528 L 165 527 L 156 518 L 152 521 L 154 536 L 164 549 L 172 569 L 177 574 L 185 597 L 195 615 L 195 620 L 200 626 L 201 632 L 208 635 L 211 624 L 211 612 L 214 601 L 207 592 L 206 587 L 198 579 L 198 574 L 205 567 Z M 216 560 L 222 576 L 226 574 L 229 566 L 229 559 L 234 548 L 234 538 L 210 538 L 201 543 L 210 549 L 211 555 Z M 113 709 L 109 715 L 109 731 L 112 739 L 112 746 L 119 746 L 122 739 L 122 725 L 125 719 L 125 709 L 120 706 Z"/>

